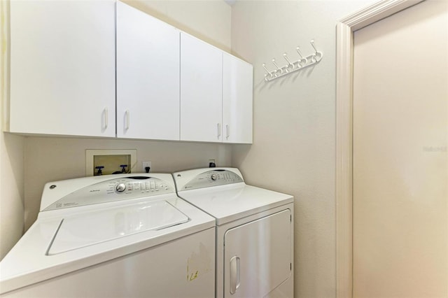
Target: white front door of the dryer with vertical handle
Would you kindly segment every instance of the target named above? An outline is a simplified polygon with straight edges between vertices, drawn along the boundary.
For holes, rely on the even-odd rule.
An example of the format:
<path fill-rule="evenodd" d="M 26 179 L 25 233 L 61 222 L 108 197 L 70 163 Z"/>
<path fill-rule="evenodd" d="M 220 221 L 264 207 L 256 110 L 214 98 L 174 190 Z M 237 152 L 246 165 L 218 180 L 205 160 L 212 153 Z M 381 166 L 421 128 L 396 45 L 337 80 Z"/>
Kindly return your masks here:
<path fill-rule="evenodd" d="M 265 297 L 291 274 L 290 210 L 224 235 L 224 297 Z"/>

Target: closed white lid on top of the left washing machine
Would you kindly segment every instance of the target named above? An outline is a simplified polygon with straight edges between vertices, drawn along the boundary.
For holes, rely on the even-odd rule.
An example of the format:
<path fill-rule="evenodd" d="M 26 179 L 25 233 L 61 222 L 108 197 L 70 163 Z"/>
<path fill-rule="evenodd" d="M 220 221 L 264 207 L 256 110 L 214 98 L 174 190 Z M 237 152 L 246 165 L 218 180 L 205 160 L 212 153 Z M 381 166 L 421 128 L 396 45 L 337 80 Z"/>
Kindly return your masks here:
<path fill-rule="evenodd" d="M 148 230 L 159 230 L 190 220 L 167 201 L 151 201 L 66 216 L 46 255 L 56 255 L 95 243 Z"/>

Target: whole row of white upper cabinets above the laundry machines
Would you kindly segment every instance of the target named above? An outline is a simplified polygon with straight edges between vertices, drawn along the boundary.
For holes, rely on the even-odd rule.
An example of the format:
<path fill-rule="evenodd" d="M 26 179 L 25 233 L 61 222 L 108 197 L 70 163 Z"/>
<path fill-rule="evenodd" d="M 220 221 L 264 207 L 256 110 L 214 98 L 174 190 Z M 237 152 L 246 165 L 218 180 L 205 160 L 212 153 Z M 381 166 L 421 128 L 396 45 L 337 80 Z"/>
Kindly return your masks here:
<path fill-rule="evenodd" d="M 120 1 L 10 1 L 9 132 L 252 143 L 252 76 Z"/>

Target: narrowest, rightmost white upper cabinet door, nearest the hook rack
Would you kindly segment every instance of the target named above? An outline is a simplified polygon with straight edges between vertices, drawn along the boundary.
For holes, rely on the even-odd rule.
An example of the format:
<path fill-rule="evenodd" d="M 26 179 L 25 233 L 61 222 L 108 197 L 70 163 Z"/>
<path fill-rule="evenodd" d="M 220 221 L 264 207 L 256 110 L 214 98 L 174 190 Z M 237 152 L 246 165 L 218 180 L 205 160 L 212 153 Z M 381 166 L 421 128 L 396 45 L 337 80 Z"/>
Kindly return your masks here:
<path fill-rule="evenodd" d="M 223 54 L 223 141 L 252 143 L 253 66 Z"/>

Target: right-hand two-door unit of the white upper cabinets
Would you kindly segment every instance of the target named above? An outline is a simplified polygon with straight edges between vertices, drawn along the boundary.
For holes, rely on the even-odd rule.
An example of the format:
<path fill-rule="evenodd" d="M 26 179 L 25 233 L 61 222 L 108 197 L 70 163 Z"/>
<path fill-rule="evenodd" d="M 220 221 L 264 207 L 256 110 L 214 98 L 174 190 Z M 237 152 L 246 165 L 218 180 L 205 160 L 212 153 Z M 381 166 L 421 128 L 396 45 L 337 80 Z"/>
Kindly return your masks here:
<path fill-rule="evenodd" d="M 181 33 L 181 140 L 252 143 L 253 67 Z"/>

